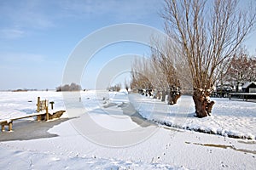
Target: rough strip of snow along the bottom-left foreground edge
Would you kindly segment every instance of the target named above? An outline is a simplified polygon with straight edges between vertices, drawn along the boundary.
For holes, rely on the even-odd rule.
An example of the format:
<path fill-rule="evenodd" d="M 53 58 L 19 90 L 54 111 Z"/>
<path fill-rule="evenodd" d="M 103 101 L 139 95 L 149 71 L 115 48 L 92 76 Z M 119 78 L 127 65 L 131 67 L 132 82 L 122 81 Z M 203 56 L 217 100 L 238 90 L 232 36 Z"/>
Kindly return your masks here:
<path fill-rule="evenodd" d="M 3 150 L 1 150 L 3 151 Z M 142 162 L 108 160 L 103 158 L 86 158 L 79 155 L 70 158 L 69 156 L 57 156 L 49 153 L 34 153 L 24 150 L 5 150 L 1 155 L 1 169 L 8 166 L 10 169 L 24 167 L 24 169 L 173 169 L 164 164 L 146 164 Z M 9 161 L 6 157 L 11 157 Z M 186 169 L 179 167 L 176 169 Z"/>

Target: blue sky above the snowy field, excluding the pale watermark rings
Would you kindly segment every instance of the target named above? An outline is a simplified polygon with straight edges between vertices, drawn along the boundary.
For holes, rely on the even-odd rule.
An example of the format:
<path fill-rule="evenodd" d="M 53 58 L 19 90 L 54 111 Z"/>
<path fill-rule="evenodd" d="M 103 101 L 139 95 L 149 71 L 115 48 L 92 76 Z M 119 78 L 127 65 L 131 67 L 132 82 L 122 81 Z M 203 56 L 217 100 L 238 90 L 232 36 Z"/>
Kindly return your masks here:
<path fill-rule="evenodd" d="M 68 56 L 84 37 L 122 23 L 163 31 L 158 14 L 162 5 L 160 0 L 0 1 L 0 90 L 55 89 L 61 85 Z M 254 31 L 247 38 L 252 52 L 255 35 Z M 84 70 L 82 87 L 94 88 L 97 69 L 121 54 L 147 55 L 148 48 L 127 42 L 102 49 Z"/>

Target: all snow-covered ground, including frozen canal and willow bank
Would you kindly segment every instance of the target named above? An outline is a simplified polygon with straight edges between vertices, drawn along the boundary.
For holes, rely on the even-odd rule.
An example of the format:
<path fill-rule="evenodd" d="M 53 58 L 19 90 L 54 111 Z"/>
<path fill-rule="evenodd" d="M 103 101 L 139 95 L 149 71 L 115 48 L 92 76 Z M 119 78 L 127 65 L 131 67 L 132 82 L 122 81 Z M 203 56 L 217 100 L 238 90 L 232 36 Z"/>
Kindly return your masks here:
<path fill-rule="evenodd" d="M 61 93 L 0 92 L 0 120 L 34 113 L 38 96 L 55 101 L 55 110 L 67 110 L 61 122 L 30 124 L 30 118 L 14 122 L 14 132 L 0 133 L 0 169 L 256 167 L 255 103 L 216 99 L 212 116 L 198 119 L 193 116 L 194 105 L 189 96 L 168 106 L 124 92 L 80 94 L 81 102 L 71 93 L 69 101 L 73 102 L 64 105 Z M 143 120 L 130 102 L 142 116 L 160 124 Z M 81 103 L 84 108 L 78 107 Z M 46 133 L 51 135 L 41 134 L 42 126 L 49 126 Z M 21 136 L 21 131 L 26 135 Z M 31 138 L 32 132 L 38 133 L 36 139 Z M 226 137 L 230 133 L 247 139 Z"/>

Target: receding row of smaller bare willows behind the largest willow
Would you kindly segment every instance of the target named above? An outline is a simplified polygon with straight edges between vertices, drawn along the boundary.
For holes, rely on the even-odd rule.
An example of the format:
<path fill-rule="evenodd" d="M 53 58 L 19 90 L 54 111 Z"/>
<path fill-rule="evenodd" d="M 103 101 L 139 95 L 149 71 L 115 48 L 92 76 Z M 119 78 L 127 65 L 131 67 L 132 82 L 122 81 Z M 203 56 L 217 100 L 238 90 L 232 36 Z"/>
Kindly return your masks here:
<path fill-rule="evenodd" d="M 168 104 L 176 104 L 181 96 L 181 72 L 185 71 L 177 70 L 181 68 L 181 63 L 176 61 L 176 54 L 171 40 L 159 42 L 152 38 L 150 58 L 136 59 L 132 65 L 131 88 L 137 88 L 142 93 L 142 89 L 147 89 L 147 92 L 154 89 L 156 95 L 161 93 L 162 101 L 168 95 Z"/>

